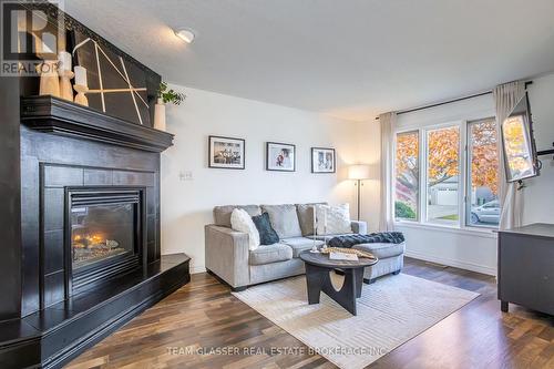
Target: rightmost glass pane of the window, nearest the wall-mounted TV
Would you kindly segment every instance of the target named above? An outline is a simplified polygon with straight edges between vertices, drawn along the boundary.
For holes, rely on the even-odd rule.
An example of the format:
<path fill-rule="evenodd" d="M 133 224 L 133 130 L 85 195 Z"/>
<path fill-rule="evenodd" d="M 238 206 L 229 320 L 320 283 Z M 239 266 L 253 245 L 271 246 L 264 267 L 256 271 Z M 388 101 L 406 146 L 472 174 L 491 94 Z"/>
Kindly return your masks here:
<path fill-rule="evenodd" d="M 466 224 L 497 226 L 499 144 L 494 119 L 468 124 L 468 177 Z"/>

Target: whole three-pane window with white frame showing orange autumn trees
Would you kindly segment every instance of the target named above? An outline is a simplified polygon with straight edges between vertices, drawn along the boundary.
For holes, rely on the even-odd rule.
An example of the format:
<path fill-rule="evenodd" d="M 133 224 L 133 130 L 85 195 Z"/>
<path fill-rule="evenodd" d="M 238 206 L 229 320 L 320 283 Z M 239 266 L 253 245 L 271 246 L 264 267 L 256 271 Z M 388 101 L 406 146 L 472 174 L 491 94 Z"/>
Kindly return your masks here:
<path fill-rule="evenodd" d="M 398 132 L 396 219 L 497 227 L 499 150 L 494 117 Z"/>

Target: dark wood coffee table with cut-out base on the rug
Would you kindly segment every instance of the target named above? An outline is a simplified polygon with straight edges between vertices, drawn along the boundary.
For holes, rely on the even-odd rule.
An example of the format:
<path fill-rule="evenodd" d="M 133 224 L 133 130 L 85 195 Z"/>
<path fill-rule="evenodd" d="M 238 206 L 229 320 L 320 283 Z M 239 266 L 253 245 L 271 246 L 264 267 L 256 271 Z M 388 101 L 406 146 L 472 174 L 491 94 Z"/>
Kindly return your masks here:
<path fill-rule="evenodd" d="M 358 262 L 330 260 L 329 255 L 300 253 L 300 259 L 306 265 L 306 283 L 308 286 L 308 304 L 319 304 L 319 295 L 324 291 L 345 309 L 356 315 L 356 298 L 361 296 L 363 284 L 363 268 L 377 264 L 379 259 L 359 258 Z M 345 273 L 345 283 L 340 290 L 336 290 L 329 275 L 334 269 Z"/>

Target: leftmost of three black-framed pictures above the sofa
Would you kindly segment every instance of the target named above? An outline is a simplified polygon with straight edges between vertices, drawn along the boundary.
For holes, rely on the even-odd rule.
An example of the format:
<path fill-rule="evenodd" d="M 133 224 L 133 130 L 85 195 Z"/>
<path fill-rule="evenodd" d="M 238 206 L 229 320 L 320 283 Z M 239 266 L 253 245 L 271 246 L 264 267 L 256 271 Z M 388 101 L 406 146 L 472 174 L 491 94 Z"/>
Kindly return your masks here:
<path fill-rule="evenodd" d="M 224 170 L 244 170 L 245 140 L 209 136 L 208 166 Z"/>

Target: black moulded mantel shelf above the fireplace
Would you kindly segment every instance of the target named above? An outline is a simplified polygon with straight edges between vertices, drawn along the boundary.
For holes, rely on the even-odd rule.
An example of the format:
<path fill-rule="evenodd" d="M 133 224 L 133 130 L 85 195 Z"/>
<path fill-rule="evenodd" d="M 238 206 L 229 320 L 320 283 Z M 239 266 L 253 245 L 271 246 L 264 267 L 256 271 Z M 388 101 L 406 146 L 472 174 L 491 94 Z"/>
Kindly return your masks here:
<path fill-rule="evenodd" d="M 30 129 L 161 153 L 173 134 L 126 122 L 53 96 L 21 99 L 21 122 Z"/>

